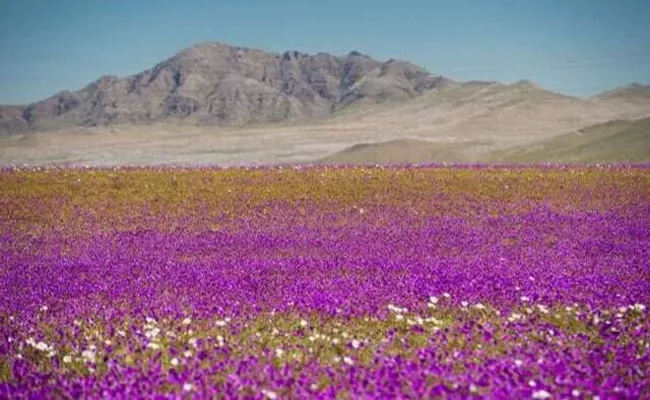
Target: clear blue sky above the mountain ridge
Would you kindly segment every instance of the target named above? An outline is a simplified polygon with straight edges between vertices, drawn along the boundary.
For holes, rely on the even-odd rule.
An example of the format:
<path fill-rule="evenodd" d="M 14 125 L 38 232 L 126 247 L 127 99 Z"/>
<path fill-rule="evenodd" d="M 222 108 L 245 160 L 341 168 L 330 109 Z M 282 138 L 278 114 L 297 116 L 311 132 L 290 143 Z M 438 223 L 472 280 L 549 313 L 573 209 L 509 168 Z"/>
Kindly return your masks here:
<path fill-rule="evenodd" d="M 650 83 L 650 0 L 0 0 L 0 103 L 137 73 L 209 40 L 358 50 L 578 96 Z"/>

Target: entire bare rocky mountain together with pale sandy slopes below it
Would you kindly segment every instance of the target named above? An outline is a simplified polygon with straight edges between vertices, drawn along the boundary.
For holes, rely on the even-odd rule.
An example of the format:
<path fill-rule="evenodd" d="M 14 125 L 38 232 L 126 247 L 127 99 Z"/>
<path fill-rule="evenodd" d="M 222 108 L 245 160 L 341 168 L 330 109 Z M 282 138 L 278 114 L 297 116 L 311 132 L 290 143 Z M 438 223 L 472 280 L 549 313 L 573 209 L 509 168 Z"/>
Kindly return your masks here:
<path fill-rule="evenodd" d="M 0 107 L 0 164 L 352 162 L 350 147 L 385 142 L 395 160 L 508 161 L 562 135 L 644 117 L 650 87 L 640 84 L 581 99 L 528 81 L 455 82 L 358 52 L 205 43 L 131 77 Z M 645 140 L 635 137 L 617 148 Z M 337 158 L 345 149 L 347 161 Z M 372 161 L 364 152 L 359 161 Z"/>

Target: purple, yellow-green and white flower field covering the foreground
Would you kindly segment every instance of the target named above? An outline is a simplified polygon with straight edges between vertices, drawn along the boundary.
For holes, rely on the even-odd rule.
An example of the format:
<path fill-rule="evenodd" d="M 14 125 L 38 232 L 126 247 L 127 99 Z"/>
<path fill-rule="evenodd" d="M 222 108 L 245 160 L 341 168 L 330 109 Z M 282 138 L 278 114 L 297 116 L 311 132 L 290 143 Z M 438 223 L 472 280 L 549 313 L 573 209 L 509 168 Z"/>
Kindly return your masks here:
<path fill-rule="evenodd" d="M 0 398 L 650 398 L 650 168 L 0 172 Z"/>

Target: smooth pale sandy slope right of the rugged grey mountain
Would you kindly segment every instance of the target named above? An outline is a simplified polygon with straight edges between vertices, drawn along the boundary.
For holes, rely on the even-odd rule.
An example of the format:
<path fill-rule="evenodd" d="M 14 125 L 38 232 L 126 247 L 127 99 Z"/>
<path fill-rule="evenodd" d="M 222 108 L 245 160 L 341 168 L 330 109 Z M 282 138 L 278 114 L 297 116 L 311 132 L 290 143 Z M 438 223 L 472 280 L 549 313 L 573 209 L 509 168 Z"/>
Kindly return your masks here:
<path fill-rule="evenodd" d="M 435 142 L 493 141 L 516 146 L 615 119 L 650 116 L 650 107 L 599 103 L 554 93 L 521 81 L 451 82 L 408 102 L 375 106 L 338 118 L 347 130 L 381 132 Z M 379 135 L 378 135 L 379 136 Z"/>

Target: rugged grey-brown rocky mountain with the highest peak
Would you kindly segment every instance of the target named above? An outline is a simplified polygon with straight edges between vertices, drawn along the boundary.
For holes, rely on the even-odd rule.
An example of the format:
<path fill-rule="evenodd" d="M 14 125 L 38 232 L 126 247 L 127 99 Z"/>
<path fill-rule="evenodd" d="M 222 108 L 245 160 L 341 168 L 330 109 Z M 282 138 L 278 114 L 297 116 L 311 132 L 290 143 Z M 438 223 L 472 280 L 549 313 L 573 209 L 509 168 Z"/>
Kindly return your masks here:
<path fill-rule="evenodd" d="M 448 80 L 405 61 L 202 43 L 150 70 L 101 77 L 24 107 L 0 107 L 0 134 L 152 122 L 244 125 L 310 120 L 400 102 Z"/>

